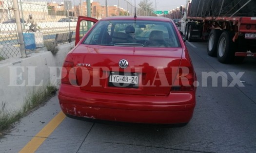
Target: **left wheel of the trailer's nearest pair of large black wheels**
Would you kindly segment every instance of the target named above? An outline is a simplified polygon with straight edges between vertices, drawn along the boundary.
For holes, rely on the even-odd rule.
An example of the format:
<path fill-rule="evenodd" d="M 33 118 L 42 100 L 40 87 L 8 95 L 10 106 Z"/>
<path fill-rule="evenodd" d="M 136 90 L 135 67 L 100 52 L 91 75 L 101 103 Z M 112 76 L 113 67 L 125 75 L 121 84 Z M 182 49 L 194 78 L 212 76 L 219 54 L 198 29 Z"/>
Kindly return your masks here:
<path fill-rule="evenodd" d="M 208 38 L 207 42 L 207 53 L 209 56 L 216 57 L 217 56 L 217 45 L 218 45 L 218 39 L 221 34 L 221 31 L 219 29 L 213 29 Z"/>

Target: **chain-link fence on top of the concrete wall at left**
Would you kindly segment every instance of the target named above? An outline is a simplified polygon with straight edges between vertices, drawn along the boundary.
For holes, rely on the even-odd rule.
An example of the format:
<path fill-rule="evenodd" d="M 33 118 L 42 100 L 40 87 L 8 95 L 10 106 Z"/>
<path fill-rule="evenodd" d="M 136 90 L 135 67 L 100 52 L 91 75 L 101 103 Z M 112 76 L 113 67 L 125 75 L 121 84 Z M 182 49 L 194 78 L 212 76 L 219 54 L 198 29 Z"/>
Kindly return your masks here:
<path fill-rule="evenodd" d="M 86 0 L 15 0 L 19 15 L 15 17 L 14 0 L 0 0 L 0 59 L 20 57 L 18 24 L 21 25 L 26 55 L 44 47 L 44 41 L 54 42 L 56 34 L 73 31 L 77 18 L 87 16 Z M 134 0 L 91 0 L 91 17 L 134 15 Z M 107 6 L 107 7 L 106 7 Z M 29 30 L 29 15 L 39 31 Z M 20 18 L 20 23 L 16 19 Z M 87 27 L 83 27 L 87 28 Z"/>

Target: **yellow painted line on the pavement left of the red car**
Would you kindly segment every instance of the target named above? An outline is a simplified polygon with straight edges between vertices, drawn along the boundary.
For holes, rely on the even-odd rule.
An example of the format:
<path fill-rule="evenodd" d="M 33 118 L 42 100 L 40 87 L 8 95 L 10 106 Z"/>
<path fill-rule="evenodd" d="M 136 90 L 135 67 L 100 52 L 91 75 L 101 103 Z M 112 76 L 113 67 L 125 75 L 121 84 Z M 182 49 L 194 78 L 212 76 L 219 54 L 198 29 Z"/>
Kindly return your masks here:
<path fill-rule="evenodd" d="M 50 136 L 50 134 L 59 126 L 63 119 L 65 119 L 65 114 L 60 111 L 47 125 L 45 125 L 42 130 L 34 136 L 21 150 L 19 153 L 34 153 L 43 143 L 43 141 Z"/>

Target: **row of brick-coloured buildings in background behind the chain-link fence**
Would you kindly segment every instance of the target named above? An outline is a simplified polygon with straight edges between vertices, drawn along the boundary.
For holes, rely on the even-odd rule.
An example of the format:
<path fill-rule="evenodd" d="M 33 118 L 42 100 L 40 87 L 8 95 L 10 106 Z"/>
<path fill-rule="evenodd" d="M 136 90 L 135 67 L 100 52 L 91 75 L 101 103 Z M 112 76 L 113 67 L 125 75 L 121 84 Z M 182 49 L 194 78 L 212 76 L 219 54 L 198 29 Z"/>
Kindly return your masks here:
<path fill-rule="evenodd" d="M 54 22 L 68 16 L 71 19 L 87 16 L 86 1 L 77 4 L 73 4 L 75 3 L 73 0 L 71 2 L 72 8 L 65 10 L 64 0 L 61 2 L 18 0 L 20 18 L 26 20 L 28 15 L 32 14 L 39 22 Z M 12 0 L 0 0 L 0 23 L 15 18 L 14 11 L 11 11 L 12 6 Z M 107 6 L 106 8 L 105 5 L 101 5 L 98 1 L 91 1 L 91 17 L 101 19 L 107 15 L 127 16 L 129 12 L 121 7 L 118 9 L 118 5 Z"/>

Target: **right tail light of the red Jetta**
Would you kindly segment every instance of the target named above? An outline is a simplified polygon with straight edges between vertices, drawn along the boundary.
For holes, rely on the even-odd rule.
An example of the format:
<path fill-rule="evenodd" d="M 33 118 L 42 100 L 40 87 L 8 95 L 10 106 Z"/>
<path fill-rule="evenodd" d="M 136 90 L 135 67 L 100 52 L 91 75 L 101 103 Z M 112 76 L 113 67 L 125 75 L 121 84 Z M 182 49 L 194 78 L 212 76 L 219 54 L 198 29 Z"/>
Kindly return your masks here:
<path fill-rule="evenodd" d="M 178 69 L 177 76 L 175 77 L 172 85 L 172 91 L 191 91 L 194 90 L 193 85 L 195 81 L 193 68 L 183 67 Z"/>

